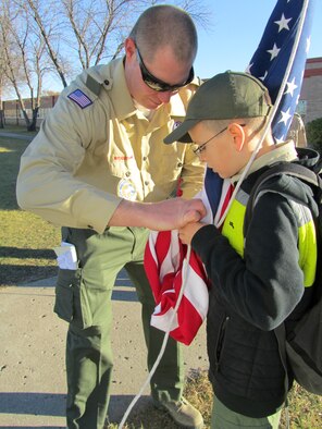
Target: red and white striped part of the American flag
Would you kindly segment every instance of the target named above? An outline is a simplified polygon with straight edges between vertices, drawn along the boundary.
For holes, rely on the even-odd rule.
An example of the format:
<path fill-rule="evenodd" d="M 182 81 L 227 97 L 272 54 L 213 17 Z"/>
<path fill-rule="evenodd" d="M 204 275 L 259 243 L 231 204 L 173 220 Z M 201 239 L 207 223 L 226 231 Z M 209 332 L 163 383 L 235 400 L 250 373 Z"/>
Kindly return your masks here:
<path fill-rule="evenodd" d="M 227 195 L 231 196 L 228 180 L 223 183 L 218 213 L 223 213 L 224 206 L 228 203 Z M 205 187 L 196 198 L 201 198 L 207 208 L 202 221 L 212 223 L 214 216 Z M 177 230 L 150 232 L 145 252 L 145 268 L 157 304 L 151 317 L 151 326 L 164 332 L 170 330 L 170 336 L 189 345 L 207 316 L 209 282 L 205 267 L 193 249 L 185 265 L 186 271 L 183 272 L 186 255 L 187 246 L 179 241 Z M 183 284 L 183 275 L 185 284 Z M 177 314 L 173 317 L 182 286 L 184 286 L 183 297 Z M 170 327 L 171 320 L 173 322 Z"/>

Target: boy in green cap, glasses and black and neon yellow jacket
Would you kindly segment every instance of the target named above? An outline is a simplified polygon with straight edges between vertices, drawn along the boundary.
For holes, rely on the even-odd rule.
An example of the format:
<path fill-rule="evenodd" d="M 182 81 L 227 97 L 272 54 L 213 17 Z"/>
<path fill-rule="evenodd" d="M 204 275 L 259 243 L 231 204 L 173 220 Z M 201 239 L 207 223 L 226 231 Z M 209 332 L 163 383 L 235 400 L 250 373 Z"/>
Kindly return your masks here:
<path fill-rule="evenodd" d="M 268 89 L 249 74 L 225 72 L 193 97 L 185 121 L 164 142 L 194 142 L 208 167 L 236 184 L 262 136 L 271 111 Z M 270 164 L 312 166 L 315 152 L 292 140 L 275 144 L 271 131 L 228 209 L 222 231 L 189 223 L 179 237 L 201 258 L 211 281 L 207 318 L 209 376 L 215 429 L 277 428 L 287 392 L 274 328 L 286 329 L 310 301 L 317 266 L 309 186 L 280 175 L 261 193 L 244 237 L 249 193 Z M 289 388 L 293 378 L 289 373 Z"/>

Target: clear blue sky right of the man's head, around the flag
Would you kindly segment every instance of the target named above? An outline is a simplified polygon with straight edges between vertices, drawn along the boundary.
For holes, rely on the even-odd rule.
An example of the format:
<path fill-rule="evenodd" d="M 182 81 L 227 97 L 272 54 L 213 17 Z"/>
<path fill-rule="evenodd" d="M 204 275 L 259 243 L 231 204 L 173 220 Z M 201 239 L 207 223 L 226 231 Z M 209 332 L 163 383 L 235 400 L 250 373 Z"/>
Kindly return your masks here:
<path fill-rule="evenodd" d="M 276 0 L 207 0 L 211 28 L 198 28 L 196 74 L 211 77 L 225 70 L 245 71 Z M 317 0 L 308 58 L 322 57 L 322 0 Z"/>

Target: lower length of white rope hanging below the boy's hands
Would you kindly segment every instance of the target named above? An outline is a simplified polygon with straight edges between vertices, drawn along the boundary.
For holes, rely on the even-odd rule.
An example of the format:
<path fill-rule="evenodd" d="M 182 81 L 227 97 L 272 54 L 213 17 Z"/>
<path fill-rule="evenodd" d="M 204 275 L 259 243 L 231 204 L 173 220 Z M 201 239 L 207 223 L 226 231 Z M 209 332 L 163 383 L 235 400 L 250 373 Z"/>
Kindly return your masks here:
<path fill-rule="evenodd" d="M 158 368 L 158 365 L 160 364 L 160 360 L 162 359 L 162 356 L 163 356 L 165 347 L 166 347 L 169 334 L 172 331 L 173 320 L 174 320 L 174 318 L 175 318 L 175 316 L 177 314 L 178 306 L 179 306 L 179 304 L 182 302 L 182 297 L 184 295 L 185 283 L 186 283 L 186 275 L 187 275 L 187 271 L 188 271 L 188 267 L 189 267 L 190 254 L 191 254 L 191 247 L 188 246 L 186 257 L 183 260 L 182 286 L 181 286 L 181 290 L 179 290 L 179 294 L 178 294 L 178 297 L 177 297 L 177 301 L 176 301 L 173 314 L 171 315 L 171 318 L 170 318 L 170 321 L 169 321 L 169 327 L 168 327 L 168 329 L 166 329 L 166 331 L 164 333 L 164 338 L 163 338 L 163 342 L 162 342 L 162 346 L 161 346 L 160 353 L 159 353 L 159 355 L 158 355 L 158 357 L 157 357 L 157 359 L 156 359 L 156 361 L 154 361 L 154 364 L 153 364 L 153 366 L 152 366 L 152 368 L 151 368 L 151 370 L 150 370 L 150 372 L 148 375 L 148 378 L 146 379 L 146 381 L 143 384 L 141 389 L 139 390 L 138 394 L 133 399 L 133 401 L 128 405 L 128 407 L 127 407 L 127 409 L 126 409 L 126 412 L 125 412 L 125 414 L 124 414 L 124 416 L 123 416 L 123 418 L 121 420 L 121 424 L 119 425 L 119 429 L 123 428 L 127 417 L 129 416 L 129 413 L 132 412 L 132 409 L 133 409 L 134 405 L 137 403 L 137 401 L 140 399 L 140 396 L 143 395 L 143 393 L 146 390 L 147 385 L 150 383 L 151 378 L 153 377 L 153 373 L 156 372 L 156 369 Z"/>

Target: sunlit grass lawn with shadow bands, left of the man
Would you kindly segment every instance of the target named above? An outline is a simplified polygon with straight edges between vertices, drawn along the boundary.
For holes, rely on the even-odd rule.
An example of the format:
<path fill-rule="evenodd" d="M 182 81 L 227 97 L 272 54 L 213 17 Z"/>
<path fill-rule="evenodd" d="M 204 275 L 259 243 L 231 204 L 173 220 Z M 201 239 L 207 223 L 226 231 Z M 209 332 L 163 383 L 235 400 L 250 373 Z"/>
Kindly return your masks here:
<path fill-rule="evenodd" d="M 3 132 L 30 135 L 25 130 Z M 1 130 L 0 130 L 1 133 Z M 0 286 L 55 275 L 60 230 L 16 204 L 15 181 L 18 162 L 28 140 L 0 138 Z"/>

